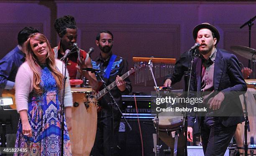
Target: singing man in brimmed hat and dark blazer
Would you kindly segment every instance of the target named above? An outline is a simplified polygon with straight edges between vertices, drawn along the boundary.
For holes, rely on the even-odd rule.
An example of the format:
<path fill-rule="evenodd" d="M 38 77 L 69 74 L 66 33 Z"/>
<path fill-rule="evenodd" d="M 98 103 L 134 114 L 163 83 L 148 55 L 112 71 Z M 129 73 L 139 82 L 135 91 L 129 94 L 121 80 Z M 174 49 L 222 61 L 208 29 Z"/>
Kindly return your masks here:
<path fill-rule="evenodd" d="M 198 116 L 203 150 L 205 156 L 223 156 L 237 124 L 244 121 L 239 95 L 247 86 L 236 56 L 216 48 L 220 34 L 214 26 L 197 25 L 193 37 L 200 44 L 200 57 L 193 64 L 189 91 L 209 97 L 204 103 L 207 112 Z M 212 116 L 218 112 L 222 116 Z M 194 121 L 195 116 L 188 116 L 188 141 L 193 141 Z"/>

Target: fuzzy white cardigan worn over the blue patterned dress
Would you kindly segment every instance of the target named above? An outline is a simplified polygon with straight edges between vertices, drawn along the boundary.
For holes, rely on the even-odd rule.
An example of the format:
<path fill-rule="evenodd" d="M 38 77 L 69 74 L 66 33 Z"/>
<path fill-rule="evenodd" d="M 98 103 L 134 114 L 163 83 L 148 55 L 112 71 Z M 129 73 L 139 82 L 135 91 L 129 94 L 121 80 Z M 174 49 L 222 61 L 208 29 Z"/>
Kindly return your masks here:
<path fill-rule="evenodd" d="M 62 67 L 64 64 L 61 60 L 55 59 L 56 67 L 62 73 Z M 62 73 L 64 74 L 64 73 Z M 71 88 L 69 84 L 69 73 L 66 73 L 67 81 L 65 87 L 64 106 L 73 106 L 73 99 Z M 29 93 L 33 91 L 33 72 L 29 67 L 28 63 L 25 62 L 20 65 L 18 73 L 15 78 L 15 103 L 17 111 L 28 110 L 28 97 Z"/>

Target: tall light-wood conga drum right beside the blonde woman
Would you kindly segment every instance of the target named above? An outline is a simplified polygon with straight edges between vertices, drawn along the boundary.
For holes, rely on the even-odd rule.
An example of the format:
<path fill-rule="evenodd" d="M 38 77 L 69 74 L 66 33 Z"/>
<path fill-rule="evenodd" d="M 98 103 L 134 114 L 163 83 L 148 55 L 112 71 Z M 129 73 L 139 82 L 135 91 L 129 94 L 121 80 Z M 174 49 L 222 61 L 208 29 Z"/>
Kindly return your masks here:
<path fill-rule="evenodd" d="M 69 132 L 73 156 L 90 156 L 97 129 L 97 101 L 92 88 L 71 88 L 72 130 Z"/>

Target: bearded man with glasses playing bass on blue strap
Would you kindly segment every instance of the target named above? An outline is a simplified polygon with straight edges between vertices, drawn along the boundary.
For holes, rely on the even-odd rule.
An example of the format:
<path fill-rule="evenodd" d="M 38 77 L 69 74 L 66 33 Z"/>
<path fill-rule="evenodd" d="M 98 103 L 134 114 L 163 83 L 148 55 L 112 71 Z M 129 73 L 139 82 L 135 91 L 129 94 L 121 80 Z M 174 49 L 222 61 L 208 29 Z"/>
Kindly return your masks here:
<path fill-rule="evenodd" d="M 108 30 L 102 30 L 98 33 L 96 38 L 96 45 L 100 48 L 100 56 L 92 61 L 93 68 L 101 69 L 105 72 L 104 81 L 108 86 L 112 82 L 116 82 L 117 86 L 110 92 L 115 98 L 120 109 L 122 109 L 122 95 L 128 94 L 132 91 L 131 81 L 129 78 L 123 80 L 120 76 L 128 71 L 127 61 L 112 53 L 113 46 L 113 34 Z M 100 79 L 97 77 L 100 81 Z M 102 90 L 103 87 L 100 88 Z M 111 107 L 108 103 L 111 103 L 112 99 L 108 93 L 102 97 L 99 101 L 101 111 L 98 112 L 97 118 L 97 133 L 95 143 L 92 148 L 92 156 L 110 156 L 110 141 L 113 137 L 113 155 L 118 155 L 118 130 L 120 124 L 121 114 L 116 106 L 113 106 L 113 136 L 110 135 L 110 116 Z"/>

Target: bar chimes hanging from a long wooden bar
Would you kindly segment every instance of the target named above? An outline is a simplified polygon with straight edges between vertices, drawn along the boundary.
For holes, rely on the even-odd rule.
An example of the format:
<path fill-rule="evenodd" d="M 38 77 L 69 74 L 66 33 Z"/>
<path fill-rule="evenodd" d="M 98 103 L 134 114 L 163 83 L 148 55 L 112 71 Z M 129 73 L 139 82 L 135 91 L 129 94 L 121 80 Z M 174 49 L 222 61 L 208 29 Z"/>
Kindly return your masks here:
<path fill-rule="evenodd" d="M 152 74 L 148 68 L 148 61 L 153 63 L 153 72 L 155 78 L 161 78 L 174 72 L 175 58 L 138 58 L 133 57 L 134 68 L 137 68 L 135 84 L 144 83 L 152 80 Z"/>

